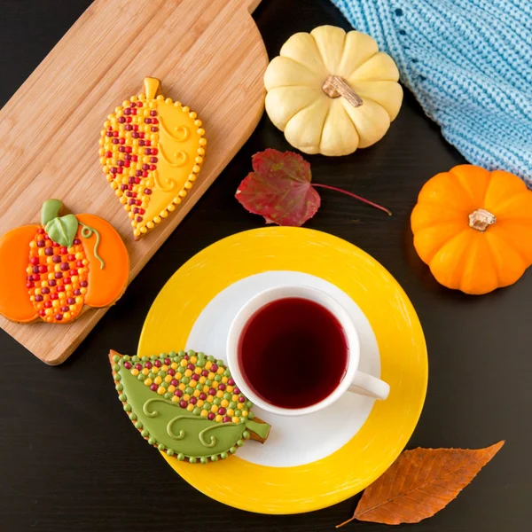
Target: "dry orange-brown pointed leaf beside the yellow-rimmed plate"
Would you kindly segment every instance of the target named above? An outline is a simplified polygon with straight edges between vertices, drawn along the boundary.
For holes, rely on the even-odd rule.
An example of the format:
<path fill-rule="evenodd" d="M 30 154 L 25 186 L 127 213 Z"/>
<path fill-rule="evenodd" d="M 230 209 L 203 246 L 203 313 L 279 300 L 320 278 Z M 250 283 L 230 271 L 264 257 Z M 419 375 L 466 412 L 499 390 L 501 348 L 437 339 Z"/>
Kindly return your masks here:
<path fill-rule="evenodd" d="M 405 450 L 394 464 L 365 489 L 352 520 L 386 525 L 419 523 L 458 496 L 505 442 L 486 449 Z"/>

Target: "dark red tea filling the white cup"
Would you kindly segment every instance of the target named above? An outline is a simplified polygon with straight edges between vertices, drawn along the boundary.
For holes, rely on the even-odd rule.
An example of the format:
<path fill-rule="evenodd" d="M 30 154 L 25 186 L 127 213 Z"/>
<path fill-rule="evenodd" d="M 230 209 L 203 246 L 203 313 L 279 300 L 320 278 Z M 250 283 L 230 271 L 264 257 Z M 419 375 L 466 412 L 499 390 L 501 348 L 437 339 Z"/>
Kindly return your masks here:
<path fill-rule="evenodd" d="M 348 369 L 348 341 L 339 320 L 316 301 L 286 297 L 250 317 L 239 337 L 239 366 L 263 401 L 301 409 L 320 403 Z"/>

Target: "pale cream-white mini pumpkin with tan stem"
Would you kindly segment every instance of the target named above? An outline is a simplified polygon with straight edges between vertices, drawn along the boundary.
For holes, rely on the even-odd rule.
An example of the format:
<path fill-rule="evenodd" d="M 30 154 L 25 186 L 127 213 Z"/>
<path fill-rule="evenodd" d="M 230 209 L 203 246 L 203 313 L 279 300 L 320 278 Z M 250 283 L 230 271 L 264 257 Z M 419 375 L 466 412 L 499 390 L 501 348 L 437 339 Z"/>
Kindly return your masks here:
<path fill-rule="evenodd" d="M 270 62 L 266 111 L 301 152 L 347 155 L 384 137 L 403 101 L 398 80 L 370 35 L 320 26 L 292 35 Z"/>

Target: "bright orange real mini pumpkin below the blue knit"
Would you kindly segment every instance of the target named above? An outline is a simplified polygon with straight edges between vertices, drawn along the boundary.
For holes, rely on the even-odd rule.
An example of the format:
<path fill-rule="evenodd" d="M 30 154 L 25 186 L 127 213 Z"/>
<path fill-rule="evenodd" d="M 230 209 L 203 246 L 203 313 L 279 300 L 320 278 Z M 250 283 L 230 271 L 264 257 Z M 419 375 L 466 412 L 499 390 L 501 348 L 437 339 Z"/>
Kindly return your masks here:
<path fill-rule="evenodd" d="M 503 170 L 437 174 L 419 192 L 411 228 L 419 257 L 448 288 L 488 293 L 532 264 L 532 192 Z"/>

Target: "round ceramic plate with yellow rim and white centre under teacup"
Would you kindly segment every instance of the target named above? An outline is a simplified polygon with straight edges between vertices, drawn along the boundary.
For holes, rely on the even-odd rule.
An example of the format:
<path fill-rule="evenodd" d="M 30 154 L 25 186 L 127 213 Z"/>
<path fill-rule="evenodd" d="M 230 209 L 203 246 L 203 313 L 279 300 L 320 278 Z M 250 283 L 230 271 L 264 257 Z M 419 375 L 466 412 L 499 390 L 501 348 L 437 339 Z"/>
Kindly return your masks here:
<path fill-rule="evenodd" d="M 382 402 L 346 394 L 297 419 L 254 407 L 271 424 L 270 438 L 224 461 L 191 465 L 161 453 L 192 486 L 249 512 L 309 512 L 355 495 L 403 450 L 426 394 L 425 340 L 401 286 L 358 247 L 307 229 L 246 231 L 192 257 L 153 302 L 138 354 L 193 348 L 224 358 L 240 306 L 281 285 L 315 286 L 340 301 L 360 335 L 360 369 L 391 392 Z"/>

